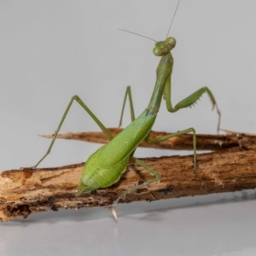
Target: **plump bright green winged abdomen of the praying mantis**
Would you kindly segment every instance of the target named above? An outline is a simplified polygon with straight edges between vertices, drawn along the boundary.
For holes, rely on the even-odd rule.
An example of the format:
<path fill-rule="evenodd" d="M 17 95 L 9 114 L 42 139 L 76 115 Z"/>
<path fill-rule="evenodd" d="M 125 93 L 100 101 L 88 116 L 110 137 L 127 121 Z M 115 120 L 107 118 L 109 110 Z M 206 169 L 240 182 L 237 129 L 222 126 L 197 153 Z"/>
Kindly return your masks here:
<path fill-rule="evenodd" d="M 132 152 L 147 137 L 154 125 L 156 114 L 145 109 L 137 119 L 107 145 L 92 154 L 84 166 L 78 195 L 99 188 L 107 188 L 119 181 L 125 172 Z"/>

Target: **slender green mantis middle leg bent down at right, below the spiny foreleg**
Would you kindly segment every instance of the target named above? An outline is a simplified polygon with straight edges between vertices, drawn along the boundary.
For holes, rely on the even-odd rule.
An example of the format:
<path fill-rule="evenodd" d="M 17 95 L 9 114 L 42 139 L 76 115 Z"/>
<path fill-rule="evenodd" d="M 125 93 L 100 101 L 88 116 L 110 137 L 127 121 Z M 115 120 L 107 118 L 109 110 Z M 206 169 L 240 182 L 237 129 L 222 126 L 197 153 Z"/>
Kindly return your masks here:
<path fill-rule="evenodd" d="M 148 136 L 145 138 L 145 142 L 148 143 L 148 144 L 160 143 L 160 142 L 166 141 L 167 139 L 169 139 L 171 137 L 177 137 L 177 136 L 189 133 L 189 132 L 193 133 L 194 172 L 195 172 L 195 176 L 201 180 L 201 177 L 199 176 L 199 174 L 197 172 L 197 168 L 196 168 L 196 135 L 195 135 L 195 129 L 194 128 L 191 127 L 191 128 L 186 129 L 186 130 L 183 130 L 183 131 L 177 131 L 175 133 L 170 133 L 170 134 L 167 134 L 166 136 L 155 138 L 154 140 L 150 140 L 149 139 L 150 134 L 148 134 Z"/>

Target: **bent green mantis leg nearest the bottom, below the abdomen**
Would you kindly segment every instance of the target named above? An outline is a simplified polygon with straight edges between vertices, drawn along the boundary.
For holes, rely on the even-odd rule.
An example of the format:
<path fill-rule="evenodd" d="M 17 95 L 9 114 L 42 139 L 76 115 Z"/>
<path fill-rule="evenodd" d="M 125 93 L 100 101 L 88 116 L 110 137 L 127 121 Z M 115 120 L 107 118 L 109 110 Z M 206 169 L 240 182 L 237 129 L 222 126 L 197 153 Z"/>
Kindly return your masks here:
<path fill-rule="evenodd" d="M 157 181 L 159 181 L 160 178 L 161 178 L 161 175 L 160 175 L 159 172 L 154 171 L 154 169 L 152 169 L 152 168 L 150 168 L 149 166 L 147 166 L 146 164 L 144 164 L 143 161 L 138 160 L 136 157 L 131 157 L 131 160 L 133 160 L 137 165 L 142 166 L 143 168 L 145 168 L 146 170 L 148 170 L 148 172 L 150 172 L 152 175 L 154 175 L 154 178 L 153 178 L 153 179 L 150 179 L 150 180 L 148 180 L 148 181 L 146 181 L 146 182 L 144 182 L 144 183 L 142 183 L 142 184 L 140 184 L 140 185 L 137 185 L 137 186 L 135 186 L 135 187 L 133 187 L 133 188 L 131 188 L 131 189 L 127 189 L 125 192 L 121 193 L 121 194 L 119 195 L 118 199 L 117 199 L 116 201 L 113 201 L 113 205 L 112 205 L 112 207 L 111 207 L 112 209 L 114 209 L 114 207 L 117 205 L 117 203 L 119 202 L 119 200 L 120 200 L 121 198 L 124 198 L 125 195 L 128 195 L 128 194 L 130 194 L 130 193 L 133 193 L 133 192 L 135 192 L 137 189 L 141 189 L 141 188 L 143 188 L 143 187 L 147 187 L 149 184 L 154 183 L 154 182 L 157 182 Z"/>

